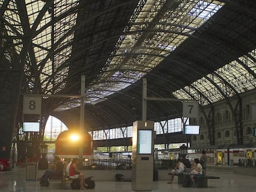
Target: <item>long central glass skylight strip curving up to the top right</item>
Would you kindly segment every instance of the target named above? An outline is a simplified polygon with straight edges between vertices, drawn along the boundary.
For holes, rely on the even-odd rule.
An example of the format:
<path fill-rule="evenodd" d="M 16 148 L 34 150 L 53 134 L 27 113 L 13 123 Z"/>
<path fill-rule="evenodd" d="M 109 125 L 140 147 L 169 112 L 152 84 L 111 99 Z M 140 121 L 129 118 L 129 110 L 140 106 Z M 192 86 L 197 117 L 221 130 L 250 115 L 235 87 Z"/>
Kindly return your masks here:
<path fill-rule="evenodd" d="M 216 13 L 218 9 L 223 6 L 223 3 L 218 1 L 179 1 L 179 4 L 176 2 L 169 2 L 169 10 L 164 13 L 163 17 L 159 19 L 161 24 L 153 23 L 152 22 L 161 8 L 163 7 L 165 1 L 147 1 L 146 4 L 143 6 L 142 10 L 139 14 L 134 13 L 131 17 L 130 24 L 134 24 L 130 27 L 130 31 L 137 31 L 139 29 L 144 29 L 147 35 L 145 35 L 144 39 L 141 39 L 143 33 L 135 33 L 134 35 L 127 35 L 122 36 L 119 40 L 122 43 L 117 45 L 118 50 L 116 51 L 118 54 L 122 54 L 122 52 L 126 53 L 125 57 L 132 56 L 135 52 L 148 52 L 150 54 L 144 54 L 142 57 L 137 56 L 137 62 L 140 64 L 140 67 L 137 66 L 138 70 L 137 76 L 143 77 L 145 73 L 142 72 L 149 72 L 153 67 L 158 65 L 164 57 L 156 57 L 153 56 L 168 56 L 171 51 L 179 46 L 186 38 L 188 37 L 186 33 L 192 34 L 194 31 L 200 27 L 205 21 L 207 21 L 213 14 Z M 135 19 L 136 18 L 136 19 Z M 195 20 L 196 19 L 196 20 Z M 138 25 L 140 23 L 140 25 Z M 168 25 L 168 24 L 173 25 Z M 150 30 L 147 31 L 148 26 L 154 26 Z M 179 27 L 178 27 L 179 26 Z M 156 32 L 153 31 L 155 28 Z M 157 30 L 163 31 L 157 31 Z M 166 33 L 168 30 L 177 31 L 174 33 Z M 184 33 L 184 35 L 180 35 L 179 33 Z M 141 44 L 138 44 L 139 41 L 142 41 Z M 146 49 L 134 49 L 134 46 L 143 47 Z M 148 49 L 147 49 L 148 48 Z M 132 61 L 128 59 L 126 64 L 122 63 L 124 61 L 124 57 L 119 57 L 116 59 L 114 56 L 112 60 L 109 60 L 106 65 L 108 66 L 106 69 L 116 69 L 116 67 L 121 67 L 122 69 L 126 67 L 131 67 Z M 134 63 L 136 66 L 136 63 Z M 144 65 L 145 67 L 142 67 Z M 104 73 L 106 69 L 103 69 Z M 103 81 L 105 78 L 109 78 L 109 75 L 113 75 L 113 73 L 109 73 L 109 75 L 102 75 L 100 76 L 98 82 Z M 139 78 L 137 78 L 139 79 Z M 136 80 L 134 80 L 135 82 Z M 95 86 L 95 82 L 93 83 Z M 93 85 L 92 85 L 93 86 Z M 109 89 L 116 89 L 117 86 Z M 125 87 L 122 87 L 125 88 Z"/>

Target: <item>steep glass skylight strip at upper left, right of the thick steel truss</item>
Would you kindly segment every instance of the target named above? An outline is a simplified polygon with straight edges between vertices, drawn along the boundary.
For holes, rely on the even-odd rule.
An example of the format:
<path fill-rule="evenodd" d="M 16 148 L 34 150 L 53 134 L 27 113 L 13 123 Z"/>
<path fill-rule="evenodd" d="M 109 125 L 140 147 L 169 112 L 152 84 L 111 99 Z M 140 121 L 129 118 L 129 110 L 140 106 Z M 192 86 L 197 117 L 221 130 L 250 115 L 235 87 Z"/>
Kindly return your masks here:
<path fill-rule="evenodd" d="M 72 0 L 54 1 L 54 8 L 55 8 L 54 9 L 54 17 L 58 17 L 60 14 L 66 12 L 71 7 L 77 6 L 77 3 L 78 3 L 78 1 L 72 1 Z M 42 7 L 39 7 L 39 8 L 42 8 Z M 36 36 L 33 43 L 38 44 L 37 47 L 35 46 L 35 52 L 36 52 L 36 57 L 38 58 L 37 59 L 38 64 L 40 64 L 40 62 L 43 61 L 43 59 L 45 59 L 45 57 L 48 54 L 48 51 L 51 49 L 51 46 L 52 46 L 51 33 L 54 33 L 54 43 L 56 43 L 63 35 L 66 34 L 67 31 L 70 30 L 70 28 L 74 27 L 75 18 L 76 18 L 76 14 L 67 15 L 66 18 L 54 23 L 54 31 L 52 31 L 51 26 L 49 26 L 45 30 L 41 31 L 41 33 L 38 34 L 38 36 Z M 41 20 L 41 22 L 40 22 L 40 27 L 38 28 L 38 30 L 50 21 L 51 21 L 51 12 L 46 12 L 43 20 Z M 67 23 L 69 23 L 69 24 L 67 25 Z M 65 46 L 67 43 L 72 41 L 73 38 L 74 38 L 74 33 L 67 36 L 67 38 L 65 38 L 64 40 L 62 40 L 62 42 L 58 45 L 58 48 Z M 40 49 L 41 49 L 41 51 L 40 51 Z M 54 68 L 60 67 L 60 65 L 62 63 L 64 63 L 70 57 L 70 54 L 71 54 L 70 47 L 67 47 L 67 48 L 63 49 L 61 52 L 59 52 L 58 54 L 55 54 Z M 55 69 L 52 69 L 52 65 L 53 65 L 52 61 L 48 59 L 48 61 L 45 63 L 45 66 L 43 67 L 42 72 L 45 74 L 48 74 L 48 75 L 52 75 L 53 70 L 55 70 Z M 41 81 L 46 80 L 45 75 L 42 74 L 40 76 L 40 80 Z M 63 77 L 56 77 L 54 83 L 60 83 L 63 80 L 64 80 Z M 65 83 L 65 82 L 63 82 L 63 83 Z M 46 85 L 47 84 L 43 83 L 42 88 L 45 89 Z M 53 88 L 53 85 L 51 85 L 49 87 Z M 49 87 L 46 88 L 47 91 L 50 91 Z"/>

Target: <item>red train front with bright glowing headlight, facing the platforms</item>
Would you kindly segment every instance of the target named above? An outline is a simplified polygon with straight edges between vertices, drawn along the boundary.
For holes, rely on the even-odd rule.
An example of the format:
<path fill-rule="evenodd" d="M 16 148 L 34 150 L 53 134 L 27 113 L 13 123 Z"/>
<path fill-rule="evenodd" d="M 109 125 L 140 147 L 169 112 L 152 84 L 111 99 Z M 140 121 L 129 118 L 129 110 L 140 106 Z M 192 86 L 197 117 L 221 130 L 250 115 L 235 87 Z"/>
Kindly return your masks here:
<path fill-rule="evenodd" d="M 62 131 L 56 139 L 55 155 L 61 159 L 79 158 L 80 146 L 83 146 L 83 161 L 92 159 L 92 138 L 89 133 L 83 133 L 81 138 L 79 131 Z"/>

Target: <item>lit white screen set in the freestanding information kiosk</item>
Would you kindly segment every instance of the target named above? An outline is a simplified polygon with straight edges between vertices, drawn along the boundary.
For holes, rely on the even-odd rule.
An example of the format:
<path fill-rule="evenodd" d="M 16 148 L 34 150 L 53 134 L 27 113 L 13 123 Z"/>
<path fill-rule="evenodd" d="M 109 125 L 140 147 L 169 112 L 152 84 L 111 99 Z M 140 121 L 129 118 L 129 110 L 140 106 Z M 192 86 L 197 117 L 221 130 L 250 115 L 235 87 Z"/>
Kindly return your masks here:
<path fill-rule="evenodd" d="M 152 130 L 139 130 L 138 154 L 152 153 Z"/>

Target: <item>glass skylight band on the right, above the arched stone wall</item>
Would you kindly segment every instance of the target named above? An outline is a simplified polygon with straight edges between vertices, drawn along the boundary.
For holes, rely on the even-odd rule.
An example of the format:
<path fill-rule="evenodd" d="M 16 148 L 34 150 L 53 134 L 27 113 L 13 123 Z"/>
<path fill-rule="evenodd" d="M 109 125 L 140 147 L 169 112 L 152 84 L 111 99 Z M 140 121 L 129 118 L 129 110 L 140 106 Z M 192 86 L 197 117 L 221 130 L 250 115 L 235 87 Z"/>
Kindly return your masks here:
<path fill-rule="evenodd" d="M 249 52 L 248 55 L 256 59 L 255 50 Z M 252 70 L 255 69 L 254 61 L 252 61 L 252 59 L 250 59 L 248 56 L 239 57 L 238 60 L 244 65 L 250 67 Z M 244 93 L 256 88 L 255 78 L 244 68 L 244 66 L 241 65 L 240 62 L 232 61 L 215 72 L 226 82 L 228 82 L 229 85 L 237 91 L 237 93 Z M 216 75 L 208 74 L 207 77 L 213 80 L 213 82 L 216 83 L 216 85 L 227 97 L 234 96 L 236 94 L 228 84 L 226 85 L 226 83 Z M 207 96 L 211 102 L 224 99 L 224 96 L 220 93 L 220 91 L 212 83 L 207 83 L 207 81 L 208 80 L 203 77 L 192 83 L 192 85 L 197 87 L 198 91 Z M 184 93 L 181 90 L 174 91 L 173 95 L 179 99 L 184 98 Z"/>

